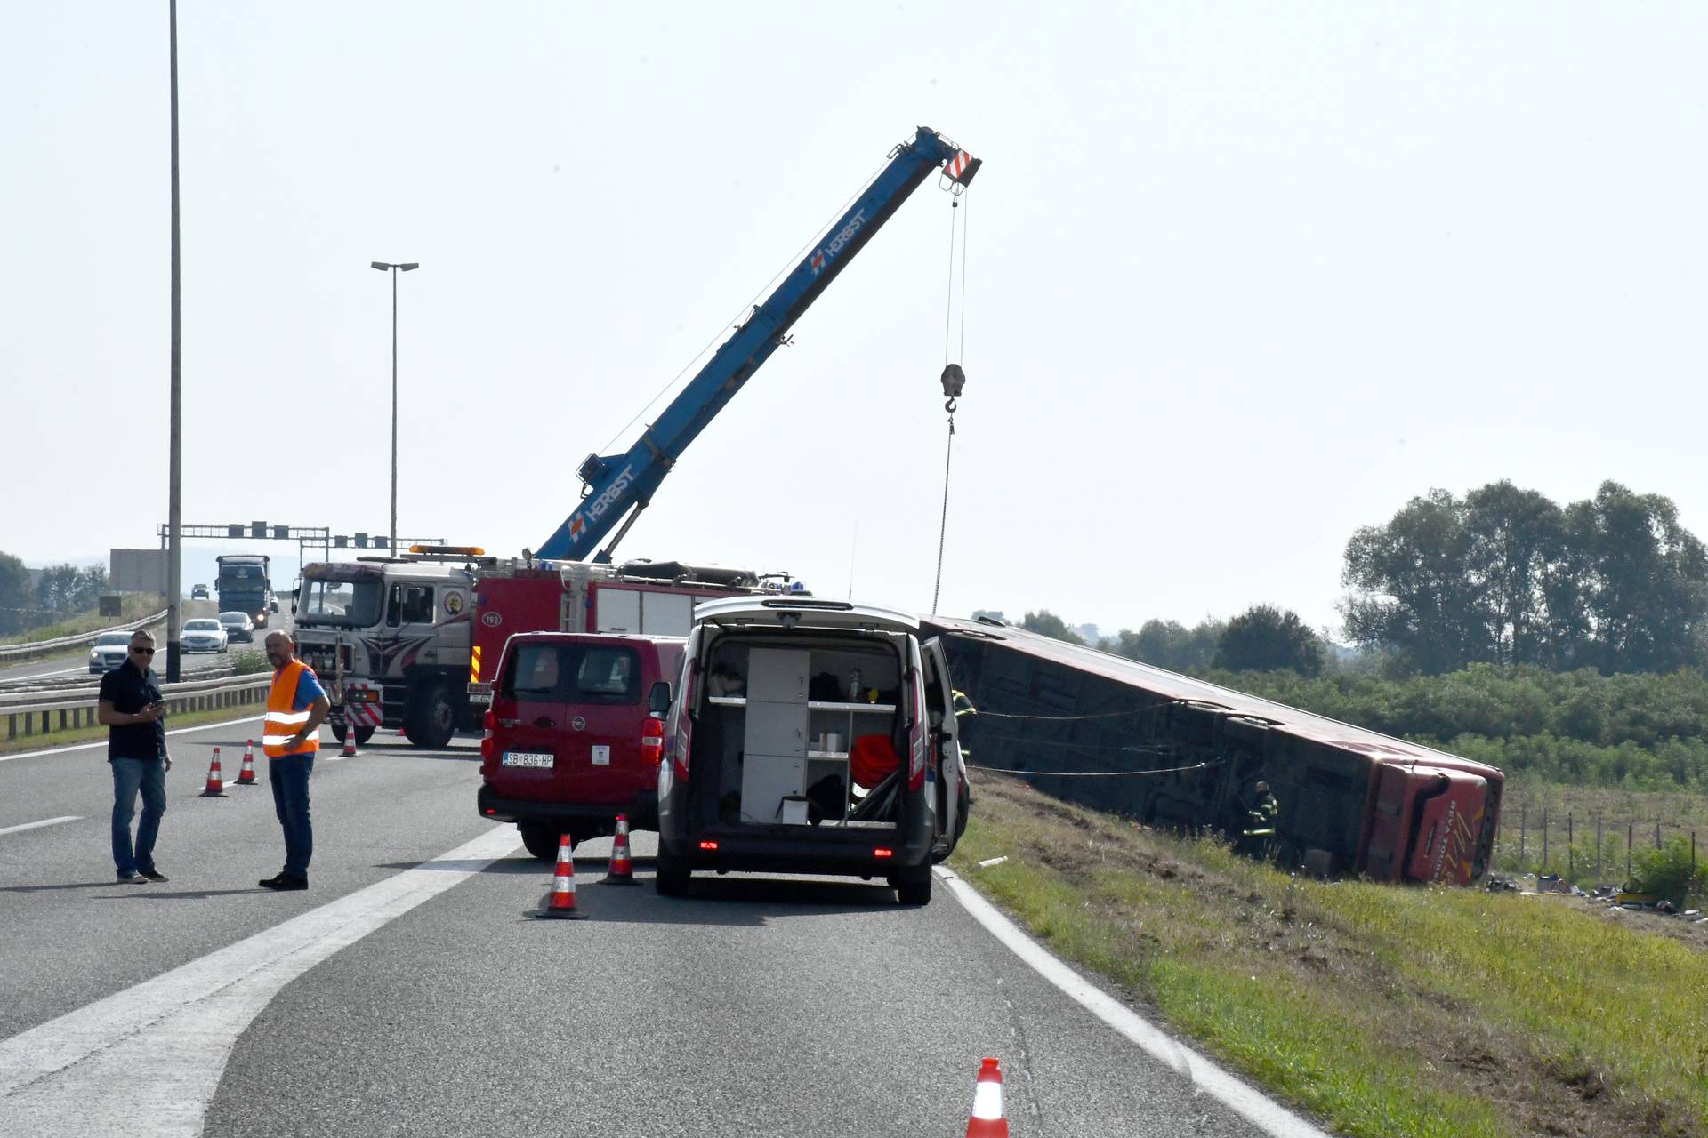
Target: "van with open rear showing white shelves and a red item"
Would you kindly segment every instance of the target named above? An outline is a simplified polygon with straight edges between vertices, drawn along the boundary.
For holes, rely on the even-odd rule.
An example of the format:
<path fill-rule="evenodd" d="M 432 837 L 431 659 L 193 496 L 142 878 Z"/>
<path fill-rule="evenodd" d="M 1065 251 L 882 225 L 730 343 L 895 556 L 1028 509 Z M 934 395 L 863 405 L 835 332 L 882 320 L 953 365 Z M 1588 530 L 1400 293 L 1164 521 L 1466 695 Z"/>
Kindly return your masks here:
<path fill-rule="evenodd" d="M 693 609 L 664 725 L 658 891 L 693 870 L 883 877 L 931 901 L 967 826 L 948 659 L 895 609 L 731 597 Z"/>

